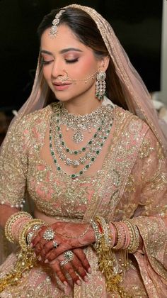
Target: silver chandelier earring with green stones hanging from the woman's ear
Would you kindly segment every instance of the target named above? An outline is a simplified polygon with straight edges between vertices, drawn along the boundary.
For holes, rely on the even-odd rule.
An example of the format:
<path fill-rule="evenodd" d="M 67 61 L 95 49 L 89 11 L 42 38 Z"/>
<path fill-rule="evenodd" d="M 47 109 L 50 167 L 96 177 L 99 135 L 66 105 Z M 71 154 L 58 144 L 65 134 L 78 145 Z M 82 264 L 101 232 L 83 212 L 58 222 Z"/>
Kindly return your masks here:
<path fill-rule="evenodd" d="M 96 97 L 98 98 L 98 100 L 103 99 L 103 97 L 105 96 L 105 78 L 105 72 L 98 72 L 96 77 Z"/>

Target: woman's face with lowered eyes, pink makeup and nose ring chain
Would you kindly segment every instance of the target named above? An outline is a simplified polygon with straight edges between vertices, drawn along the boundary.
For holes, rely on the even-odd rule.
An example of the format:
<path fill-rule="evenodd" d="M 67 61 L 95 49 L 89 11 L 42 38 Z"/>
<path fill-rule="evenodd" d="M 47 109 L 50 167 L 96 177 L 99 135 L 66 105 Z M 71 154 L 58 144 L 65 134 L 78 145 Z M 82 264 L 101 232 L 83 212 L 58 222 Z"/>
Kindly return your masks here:
<path fill-rule="evenodd" d="M 99 69 L 102 60 L 97 60 L 93 50 L 81 43 L 68 26 L 60 25 L 55 38 L 50 38 L 49 31 L 42 33 L 41 56 L 43 75 L 56 98 L 95 98 L 96 75 L 87 83 L 85 79 Z"/>

